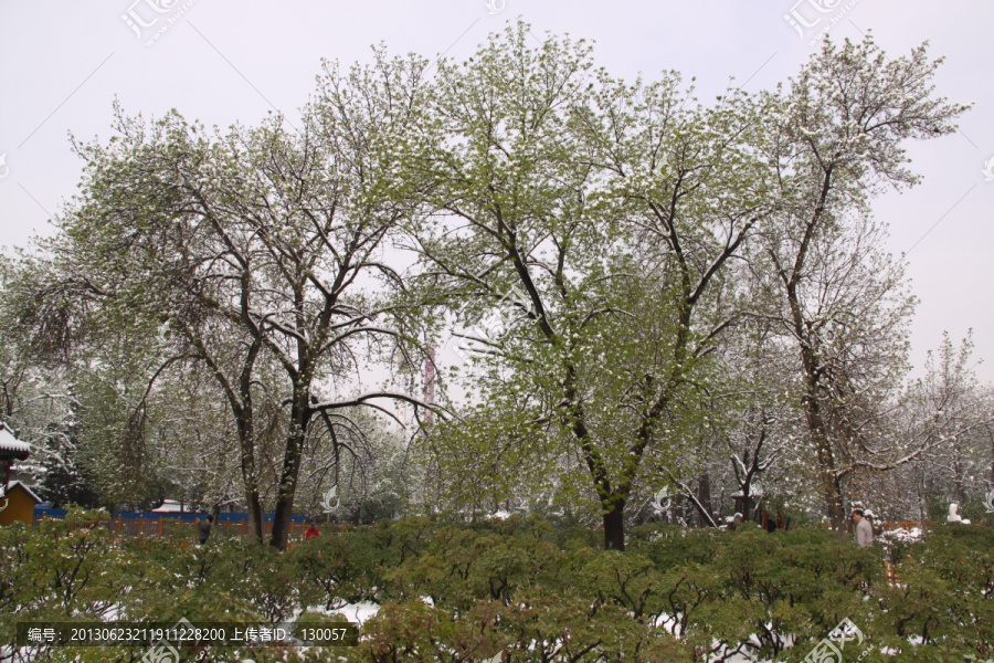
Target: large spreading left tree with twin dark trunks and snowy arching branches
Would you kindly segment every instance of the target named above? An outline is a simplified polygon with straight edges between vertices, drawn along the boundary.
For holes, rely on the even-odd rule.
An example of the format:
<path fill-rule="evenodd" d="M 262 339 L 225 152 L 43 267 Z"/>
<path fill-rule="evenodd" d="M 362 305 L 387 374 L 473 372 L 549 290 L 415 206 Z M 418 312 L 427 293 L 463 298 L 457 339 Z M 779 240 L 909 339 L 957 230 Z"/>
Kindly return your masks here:
<path fill-rule="evenodd" d="M 416 117 L 423 70 L 382 54 L 347 76 L 328 66 L 300 131 L 274 117 L 210 135 L 177 113 L 146 125 L 118 112 L 107 144 L 75 144 L 87 168 L 52 249 L 62 273 L 104 315 L 165 324 L 173 340 L 161 370 L 186 359 L 207 365 L 236 424 L 257 536 L 256 401 L 265 392 L 284 409 L 277 547 L 289 533 L 309 428 L 338 425 L 324 414 L 376 399 L 420 404 L 351 390 L 381 344 L 404 338 L 410 324 L 400 322 L 402 307 L 364 288 L 402 285 L 381 252 L 404 217 L 390 164 Z M 266 362 L 279 377 L 263 383 Z"/>

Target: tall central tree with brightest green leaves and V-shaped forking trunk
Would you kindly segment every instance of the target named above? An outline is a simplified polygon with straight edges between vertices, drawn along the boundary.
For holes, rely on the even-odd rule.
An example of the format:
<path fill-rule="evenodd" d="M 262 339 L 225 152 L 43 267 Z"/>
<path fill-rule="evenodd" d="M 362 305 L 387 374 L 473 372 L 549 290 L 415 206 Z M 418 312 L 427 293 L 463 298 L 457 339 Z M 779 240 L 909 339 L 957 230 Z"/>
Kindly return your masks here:
<path fill-rule="evenodd" d="M 736 315 L 716 303 L 722 269 L 772 206 L 750 145 L 761 109 L 741 94 L 685 107 L 675 75 L 628 85 L 582 42 L 529 39 L 519 23 L 440 63 L 414 249 L 440 302 L 516 306 L 522 324 L 476 337 L 483 396 L 541 429 L 514 444 L 579 464 L 623 549 L 643 461 L 672 452 L 666 419 Z"/>

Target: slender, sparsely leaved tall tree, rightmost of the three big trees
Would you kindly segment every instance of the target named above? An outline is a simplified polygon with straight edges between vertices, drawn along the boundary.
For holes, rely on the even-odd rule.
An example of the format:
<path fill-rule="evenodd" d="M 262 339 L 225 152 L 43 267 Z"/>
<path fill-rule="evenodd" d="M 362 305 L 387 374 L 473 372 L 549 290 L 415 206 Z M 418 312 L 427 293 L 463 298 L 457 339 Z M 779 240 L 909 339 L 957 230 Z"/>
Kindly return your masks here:
<path fill-rule="evenodd" d="M 966 109 L 933 95 L 940 63 L 926 45 L 887 60 L 871 38 L 840 48 L 826 39 L 773 116 L 769 160 L 783 203 L 762 244 L 765 278 L 779 302 L 773 315 L 797 347 L 801 402 L 835 527 L 845 519 L 843 481 L 873 453 L 867 429 L 905 369 L 913 304 L 867 206 L 884 187 L 918 181 L 903 140 L 950 134 Z"/>

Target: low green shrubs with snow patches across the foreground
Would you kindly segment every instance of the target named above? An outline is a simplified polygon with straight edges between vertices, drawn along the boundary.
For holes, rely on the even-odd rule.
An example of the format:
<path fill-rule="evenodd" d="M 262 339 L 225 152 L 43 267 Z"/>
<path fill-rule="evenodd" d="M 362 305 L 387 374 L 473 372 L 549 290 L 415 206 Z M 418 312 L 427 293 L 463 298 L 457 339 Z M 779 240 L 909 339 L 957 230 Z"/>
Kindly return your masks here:
<path fill-rule="evenodd" d="M 593 533 L 539 518 L 477 526 L 410 518 L 325 533 L 278 552 L 221 532 L 204 547 L 113 540 L 89 522 L 92 514 L 72 513 L 0 529 L 0 642 L 12 641 L 18 620 L 278 622 L 372 601 L 381 609 L 358 648 L 253 659 L 469 662 L 503 652 L 516 662 L 648 662 L 741 652 L 801 661 L 844 619 L 860 629 L 860 652 L 870 649 L 864 662 L 994 656 L 988 527 L 943 526 L 893 550 L 900 565 L 890 582 L 880 547 L 859 549 L 816 528 L 646 526 L 617 552 L 600 550 Z M 141 652 L 35 654 L 130 661 Z"/>

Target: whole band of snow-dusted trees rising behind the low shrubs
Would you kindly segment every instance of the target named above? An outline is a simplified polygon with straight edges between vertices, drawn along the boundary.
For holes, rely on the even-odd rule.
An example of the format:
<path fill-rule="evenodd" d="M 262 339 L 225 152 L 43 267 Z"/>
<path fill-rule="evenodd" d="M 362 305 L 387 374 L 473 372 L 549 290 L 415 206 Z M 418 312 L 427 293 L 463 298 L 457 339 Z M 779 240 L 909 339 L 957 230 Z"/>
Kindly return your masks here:
<path fill-rule="evenodd" d="M 109 139 L 74 140 L 56 236 L 3 263 L 4 386 L 72 388 L 56 429 L 105 502 L 175 467 L 149 494 L 242 504 L 260 539 L 272 508 L 279 547 L 330 487 L 593 514 L 613 549 L 670 490 L 685 522 L 780 494 L 839 527 L 860 482 L 939 453 L 939 422 L 990 427 L 965 377 L 955 423 L 945 387 L 905 386 L 914 299 L 871 213 L 917 182 L 903 145 L 966 109 L 940 63 L 826 39 L 785 85 L 705 103 L 518 22 L 434 71 L 326 62 L 299 128 L 115 105 Z M 436 372 L 446 329 L 465 362 L 417 385 L 440 402 L 381 379 Z"/>

